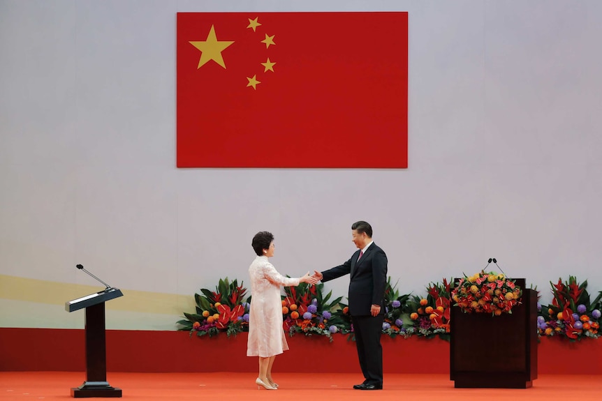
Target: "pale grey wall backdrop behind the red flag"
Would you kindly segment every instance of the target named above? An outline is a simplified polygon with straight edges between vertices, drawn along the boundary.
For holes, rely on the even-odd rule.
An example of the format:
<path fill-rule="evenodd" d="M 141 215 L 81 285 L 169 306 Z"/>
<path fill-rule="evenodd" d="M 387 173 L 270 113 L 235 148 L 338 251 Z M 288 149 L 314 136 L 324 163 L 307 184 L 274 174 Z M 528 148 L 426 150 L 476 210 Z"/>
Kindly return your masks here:
<path fill-rule="evenodd" d="M 331 10 L 409 12 L 409 169 L 176 169 L 176 13 Z M 246 282 L 260 230 L 301 275 L 344 262 L 367 220 L 403 293 L 489 257 L 546 303 L 569 274 L 602 290 L 600 17 L 596 0 L 0 0 L 0 278 L 94 285 L 81 263 L 126 296 L 191 296 Z M 6 287 L 0 326 L 82 327 Z M 185 307 L 108 326 L 171 330 Z"/>

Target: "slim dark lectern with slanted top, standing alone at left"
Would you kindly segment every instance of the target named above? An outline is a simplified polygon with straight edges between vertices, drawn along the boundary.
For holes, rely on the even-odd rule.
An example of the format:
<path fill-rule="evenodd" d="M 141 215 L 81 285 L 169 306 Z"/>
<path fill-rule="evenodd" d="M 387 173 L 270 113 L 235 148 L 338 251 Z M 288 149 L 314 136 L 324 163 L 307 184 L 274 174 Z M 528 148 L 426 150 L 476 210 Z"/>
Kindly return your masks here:
<path fill-rule="evenodd" d="M 65 303 L 67 312 L 86 308 L 86 381 L 71 388 L 73 398 L 122 396 L 122 389 L 111 387 L 107 381 L 105 340 L 105 302 L 122 295 L 120 289 L 107 288 Z"/>

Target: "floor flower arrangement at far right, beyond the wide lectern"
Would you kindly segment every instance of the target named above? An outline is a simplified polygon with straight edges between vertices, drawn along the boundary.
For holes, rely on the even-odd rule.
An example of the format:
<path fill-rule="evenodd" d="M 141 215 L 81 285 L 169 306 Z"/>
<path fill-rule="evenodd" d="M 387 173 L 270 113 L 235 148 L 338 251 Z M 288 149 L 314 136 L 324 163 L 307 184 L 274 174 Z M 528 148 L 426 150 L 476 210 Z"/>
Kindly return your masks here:
<path fill-rule="evenodd" d="M 537 317 L 539 335 L 560 335 L 571 341 L 599 338 L 602 292 L 590 302 L 587 280 L 580 284 L 572 275 L 566 282 L 559 278 L 557 284 L 550 282 L 550 285 L 552 304 L 541 308 Z"/>

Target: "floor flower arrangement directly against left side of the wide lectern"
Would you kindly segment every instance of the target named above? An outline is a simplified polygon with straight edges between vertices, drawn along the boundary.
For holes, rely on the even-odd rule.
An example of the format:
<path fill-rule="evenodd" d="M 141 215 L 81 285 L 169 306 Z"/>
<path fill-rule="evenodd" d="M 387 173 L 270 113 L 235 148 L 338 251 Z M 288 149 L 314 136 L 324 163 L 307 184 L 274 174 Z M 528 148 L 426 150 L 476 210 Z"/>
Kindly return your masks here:
<path fill-rule="evenodd" d="M 450 340 L 450 282 L 431 282 L 427 287 L 427 296 L 413 296 L 409 301 L 410 322 L 406 328 L 408 335 L 420 335 L 426 338 L 439 336 Z"/>

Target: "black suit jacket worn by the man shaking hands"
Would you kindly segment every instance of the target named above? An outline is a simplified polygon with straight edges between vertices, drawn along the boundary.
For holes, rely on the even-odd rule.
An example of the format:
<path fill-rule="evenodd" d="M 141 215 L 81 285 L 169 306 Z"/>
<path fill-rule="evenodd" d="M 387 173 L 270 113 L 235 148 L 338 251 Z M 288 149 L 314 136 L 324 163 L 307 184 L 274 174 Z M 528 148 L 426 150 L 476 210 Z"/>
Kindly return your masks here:
<path fill-rule="evenodd" d="M 357 250 L 344 264 L 323 271 L 322 281 L 350 274 L 349 314 L 370 315 L 372 304 L 381 305 L 381 314 L 383 314 L 385 312 L 383 298 L 387 284 L 387 255 L 376 246 L 376 243 L 372 243 L 358 262 L 359 256 L 360 250 Z"/>

